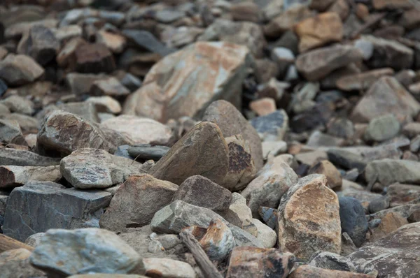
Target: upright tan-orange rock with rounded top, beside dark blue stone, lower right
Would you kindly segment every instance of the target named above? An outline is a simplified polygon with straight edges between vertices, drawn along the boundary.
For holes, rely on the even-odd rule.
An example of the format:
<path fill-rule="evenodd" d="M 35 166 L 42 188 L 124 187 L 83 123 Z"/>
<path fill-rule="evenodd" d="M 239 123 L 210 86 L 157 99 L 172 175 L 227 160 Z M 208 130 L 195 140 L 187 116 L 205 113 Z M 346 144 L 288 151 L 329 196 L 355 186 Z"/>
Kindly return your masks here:
<path fill-rule="evenodd" d="M 324 175 L 309 175 L 281 197 L 279 246 L 305 261 L 318 249 L 338 253 L 341 249 L 337 195 L 327 187 Z"/>

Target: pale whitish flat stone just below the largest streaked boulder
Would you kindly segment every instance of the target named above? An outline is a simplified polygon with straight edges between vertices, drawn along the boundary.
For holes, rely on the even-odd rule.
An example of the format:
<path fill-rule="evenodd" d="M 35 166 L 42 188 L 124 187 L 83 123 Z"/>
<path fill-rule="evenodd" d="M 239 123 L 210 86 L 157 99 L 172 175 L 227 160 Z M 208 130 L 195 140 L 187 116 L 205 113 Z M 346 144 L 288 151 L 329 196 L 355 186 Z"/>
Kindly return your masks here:
<path fill-rule="evenodd" d="M 101 126 L 113 129 L 127 136 L 134 144 L 167 145 L 172 139 L 169 126 L 146 117 L 120 115 L 101 123 Z"/>

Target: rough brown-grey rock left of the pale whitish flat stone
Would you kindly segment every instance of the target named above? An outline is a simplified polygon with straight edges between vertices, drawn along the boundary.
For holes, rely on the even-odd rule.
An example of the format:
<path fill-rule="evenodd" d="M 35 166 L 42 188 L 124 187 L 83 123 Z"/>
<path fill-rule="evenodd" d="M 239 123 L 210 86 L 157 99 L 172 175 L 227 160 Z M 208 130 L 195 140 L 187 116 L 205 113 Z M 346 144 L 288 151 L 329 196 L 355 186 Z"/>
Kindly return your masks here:
<path fill-rule="evenodd" d="M 52 111 L 41 123 L 36 138 L 38 148 L 71 154 L 76 149 L 105 149 L 113 153 L 116 146 L 105 133 L 85 119 L 62 110 Z"/>

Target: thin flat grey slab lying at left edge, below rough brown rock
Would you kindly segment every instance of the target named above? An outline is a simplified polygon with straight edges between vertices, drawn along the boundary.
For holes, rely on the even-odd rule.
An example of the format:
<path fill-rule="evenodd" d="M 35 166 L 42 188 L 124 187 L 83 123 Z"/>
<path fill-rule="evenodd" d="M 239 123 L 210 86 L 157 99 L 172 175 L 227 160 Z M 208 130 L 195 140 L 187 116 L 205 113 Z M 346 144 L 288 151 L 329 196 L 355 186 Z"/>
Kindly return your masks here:
<path fill-rule="evenodd" d="M 60 159 L 40 156 L 25 149 L 0 149 L 0 165 L 7 166 L 53 166 L 59 165 Z"/>

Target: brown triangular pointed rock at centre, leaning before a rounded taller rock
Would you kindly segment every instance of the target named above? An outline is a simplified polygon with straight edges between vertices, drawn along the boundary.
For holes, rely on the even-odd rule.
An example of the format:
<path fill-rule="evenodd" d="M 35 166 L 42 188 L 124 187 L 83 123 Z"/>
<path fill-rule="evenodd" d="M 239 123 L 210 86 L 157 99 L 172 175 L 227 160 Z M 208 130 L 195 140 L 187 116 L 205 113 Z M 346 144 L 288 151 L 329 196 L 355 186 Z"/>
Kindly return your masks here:
<path fill-rule="evenodd" d="M 188 177 L 202 175 L 212 182 L 222 182 L 228 172 L 229 149 L 216 124 L 202 122 L 149 170 L 159 180 L 181 184 Z"/>

